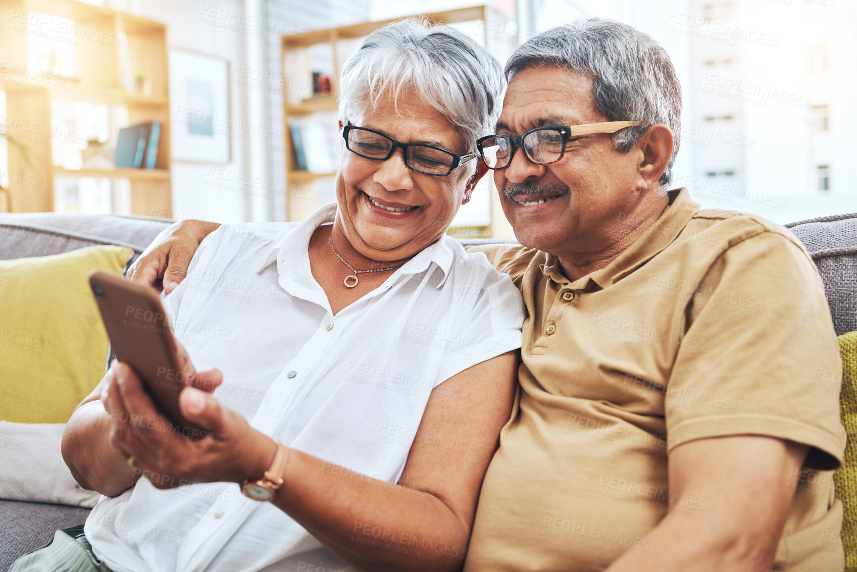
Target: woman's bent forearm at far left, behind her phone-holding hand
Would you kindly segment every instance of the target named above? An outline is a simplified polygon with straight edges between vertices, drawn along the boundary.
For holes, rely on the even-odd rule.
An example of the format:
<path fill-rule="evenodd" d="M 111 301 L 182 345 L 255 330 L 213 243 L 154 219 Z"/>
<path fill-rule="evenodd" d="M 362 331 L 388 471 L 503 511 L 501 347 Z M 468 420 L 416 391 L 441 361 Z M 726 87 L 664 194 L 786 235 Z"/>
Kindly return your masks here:
<path fill-rule="evenodd" d="M 117 497 L 133 486 L 140 472 L 129 467 L 110 442 L 114 423 L 98 400 L 79 406 L 63 433 L 63 460 L 78 485 Z"/>

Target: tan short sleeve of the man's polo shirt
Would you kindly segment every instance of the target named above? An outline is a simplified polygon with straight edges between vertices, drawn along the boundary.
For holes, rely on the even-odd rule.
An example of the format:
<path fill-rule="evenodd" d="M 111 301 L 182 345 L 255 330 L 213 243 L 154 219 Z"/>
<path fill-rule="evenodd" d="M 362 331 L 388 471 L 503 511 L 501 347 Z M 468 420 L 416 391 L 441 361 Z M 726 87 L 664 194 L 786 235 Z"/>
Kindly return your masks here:
<path fill-rule="evenodd" d="M 665 395 L 668 448 L 761 435 L 811 447 L 808 467 L 842 462 L 842 362 L 824 286 L 800 246 L 761 232 L 725 250 L 689 306 Z"/>

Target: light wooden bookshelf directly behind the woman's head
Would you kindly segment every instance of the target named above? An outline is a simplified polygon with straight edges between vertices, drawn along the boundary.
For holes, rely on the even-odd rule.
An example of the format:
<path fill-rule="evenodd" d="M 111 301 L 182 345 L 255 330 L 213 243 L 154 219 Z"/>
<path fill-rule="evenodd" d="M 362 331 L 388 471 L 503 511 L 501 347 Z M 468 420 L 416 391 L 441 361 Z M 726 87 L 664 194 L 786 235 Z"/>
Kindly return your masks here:
<path fill-rule="evenodd" d="M 427 14 L 420 17 L 431 21 L 455 24 L 459 22 L 476 21 L 480 23 L 482 41 L 488 43 L 486 21 L 488 8 L 473 6 L 462 9 L 452 9 Z M 341 66 L 351 56 L 360 39 L 368 36 L 381 26 L 401 18 L 385 21 L 368 21 L 350 26 L 332 27 L 322 30 L 311 30 L 303 33 L 284 35 L 282 37 L 281 65 L 284 90 L 284 122 L 285 122 L 285 196 L 286 220 L 303 220 L 318 207 L 318 183 L 323 178 L 333 178 L 335 172 L 309 172 L 297 169 L 296 153 L 293 148 L 291 125 L 315 114 L 327 113 L 331 117 L 338 111 L 337 94 L 339 93 L 339 75 Z M 327 47 L 325 47 L 327 46 Z M 313 95 L 311 69 L 308 64 L 313 49 L 321 47 L 329 55 L 327 60 L 331 80 L 329 95 Z M 309 87 L 309 89 L 308 89 Z M 335 152 L 334 152 L 335 154 Z M 297 190 L 296 190 L 297 188 Z M 491 209 L 492 213 L 494 209 Z M 494 218 L 493 215 L 491 217 Z M 468 227 L 471 236 L 490 236 L 491 224 L 486 226 Z"/>

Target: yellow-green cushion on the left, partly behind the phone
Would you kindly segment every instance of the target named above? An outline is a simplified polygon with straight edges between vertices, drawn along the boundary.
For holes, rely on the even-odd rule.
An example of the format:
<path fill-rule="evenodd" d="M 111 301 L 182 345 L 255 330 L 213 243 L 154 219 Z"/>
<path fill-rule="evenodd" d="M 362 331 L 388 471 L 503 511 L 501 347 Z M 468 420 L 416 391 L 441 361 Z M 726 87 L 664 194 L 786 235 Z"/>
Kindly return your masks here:
<path fill-rule="evenodd" d="M 132 250 L 90 246 L 0 260 L 0 420 L 65 423 L 104 376 L 107 333 L 87 276 Z"/>

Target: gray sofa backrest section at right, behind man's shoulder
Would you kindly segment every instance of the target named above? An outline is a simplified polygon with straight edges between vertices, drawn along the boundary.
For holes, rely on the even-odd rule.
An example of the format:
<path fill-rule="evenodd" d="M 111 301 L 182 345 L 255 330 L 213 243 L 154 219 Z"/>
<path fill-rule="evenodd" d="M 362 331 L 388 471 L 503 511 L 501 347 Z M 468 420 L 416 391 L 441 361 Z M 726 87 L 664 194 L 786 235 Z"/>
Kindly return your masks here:
<path fill-rule="evenodd" d="M 786 226 L 818 266 L 836 334 L 857 330 L 857 214 L 837 214 Z"/>

